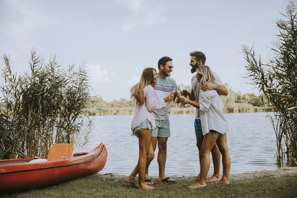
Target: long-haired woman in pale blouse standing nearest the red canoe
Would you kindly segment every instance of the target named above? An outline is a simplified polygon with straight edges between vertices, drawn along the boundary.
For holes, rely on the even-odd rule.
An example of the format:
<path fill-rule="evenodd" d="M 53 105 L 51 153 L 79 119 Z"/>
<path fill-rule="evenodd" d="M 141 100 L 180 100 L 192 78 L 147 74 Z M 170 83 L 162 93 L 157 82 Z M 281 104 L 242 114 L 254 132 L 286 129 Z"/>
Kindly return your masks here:
<path fill-rule="evenodd" d="M 158 100 L 153 87 L 157 83 L 157 72 L 154 68 L 145 68 L 137 88 L 132 91 L 131 98 L 136 100 L 136 111 L 132 119 L 132 135 L 139 139 L 138 164 L 126 178 L 126 182 L 143 190 L 154 189 L 145 182 L 145 172 L 148 156 L 154 158 L 151 143 L 151 130 L 156 128 L 153 111 L 166 108 L 164 100 Z M 135 181 L 139 174 L 139 185 Z"/>

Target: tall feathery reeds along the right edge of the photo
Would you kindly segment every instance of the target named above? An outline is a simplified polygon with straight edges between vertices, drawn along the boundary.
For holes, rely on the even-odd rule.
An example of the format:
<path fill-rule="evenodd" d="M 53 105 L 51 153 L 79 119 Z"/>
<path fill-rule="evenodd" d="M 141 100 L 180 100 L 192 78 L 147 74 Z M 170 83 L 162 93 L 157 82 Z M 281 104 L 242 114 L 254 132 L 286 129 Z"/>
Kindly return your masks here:
<path fill-rule="evenodd" d="M 284 158 L 289 166 L 297 165 L 297 12 L 290 1 L 286 20 L 276 22 L 279 35 L 276 47 L 271 48 L 275 57 L 266 64 L 261 62 L 254 48 L 244 47 L 247 77 L 262 94 L 262 103 L 270 106 L 270 116 L 277 140 L 277 163 Z"/>

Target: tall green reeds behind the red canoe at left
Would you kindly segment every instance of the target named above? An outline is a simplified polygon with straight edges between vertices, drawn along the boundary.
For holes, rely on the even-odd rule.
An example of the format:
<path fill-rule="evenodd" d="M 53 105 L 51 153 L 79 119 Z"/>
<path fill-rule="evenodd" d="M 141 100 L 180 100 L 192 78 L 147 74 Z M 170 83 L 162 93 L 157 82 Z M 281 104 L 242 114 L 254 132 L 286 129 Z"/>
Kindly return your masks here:
<path fill-rule="evenodd" d="M 92 121 L 84 116 L 90 100 L 87 71 L 74 65 L 64 71 L 33 49 L 30 72 L 12 73 L 4 54 L 0 86 L 0 159 L 45 156 L 52 143 L 87 140 Z M 84 144 L 84 142 L 82 143 Z"/>

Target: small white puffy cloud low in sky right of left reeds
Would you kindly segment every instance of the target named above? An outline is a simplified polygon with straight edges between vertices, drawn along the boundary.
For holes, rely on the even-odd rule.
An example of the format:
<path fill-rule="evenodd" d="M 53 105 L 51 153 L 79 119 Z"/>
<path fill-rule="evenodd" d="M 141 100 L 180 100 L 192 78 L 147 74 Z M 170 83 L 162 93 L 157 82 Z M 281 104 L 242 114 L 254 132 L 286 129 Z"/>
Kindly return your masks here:
<path fill-rule="evenodd" d="M 111 79 L 115 78 L 114 72 L 108 72 L 106 69 L 102 68 L 100 65 L 88 65 L 89 76 L 91 82 L 93 83 L 111 83 Z"/>

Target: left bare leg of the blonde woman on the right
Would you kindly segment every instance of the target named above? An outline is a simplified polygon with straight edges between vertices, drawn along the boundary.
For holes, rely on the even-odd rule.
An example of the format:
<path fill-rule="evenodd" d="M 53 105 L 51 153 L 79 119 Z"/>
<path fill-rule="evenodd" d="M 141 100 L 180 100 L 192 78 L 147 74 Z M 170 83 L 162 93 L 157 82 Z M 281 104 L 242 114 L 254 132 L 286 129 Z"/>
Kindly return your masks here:
<path fill-rule="evenodd" d="M 189 188 L 206 186 L 207 173 L 210 167 L 210 151 L 214 147 L 219 136 L 219 134 L 205 134 L 201 148 L 200 178 L 196 184 L 189 186 Z"/>

